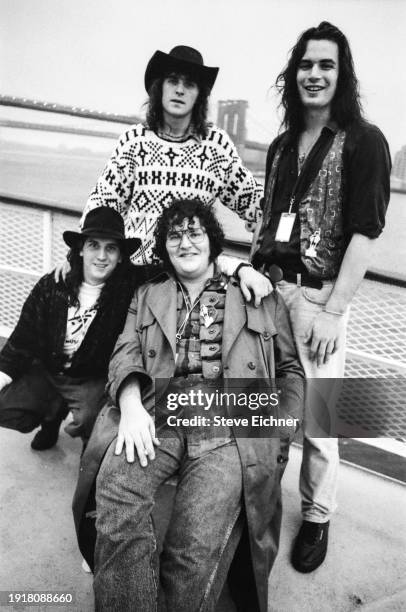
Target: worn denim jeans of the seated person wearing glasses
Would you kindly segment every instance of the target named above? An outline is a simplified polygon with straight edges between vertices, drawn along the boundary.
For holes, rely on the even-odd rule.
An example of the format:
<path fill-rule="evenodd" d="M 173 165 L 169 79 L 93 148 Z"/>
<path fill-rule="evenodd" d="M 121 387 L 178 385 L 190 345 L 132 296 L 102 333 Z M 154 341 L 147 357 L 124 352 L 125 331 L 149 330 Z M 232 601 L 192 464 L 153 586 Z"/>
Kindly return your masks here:
<path fill-rule="evenodd" d="M 151 520 L 158 487 L 179 474 L 161 554 L 167 612 L 209 612 L 226 579 L 241 523 L 242 470 L 229 443 L 191 458 L 185 437 L 161 437 L 156 459 L 114 455 L 112 443 L 97 478 L 94 591 L 97 612 L 155 612 L 159 575 Z M 239 531 L 239 533 L 237 533 Z"/>

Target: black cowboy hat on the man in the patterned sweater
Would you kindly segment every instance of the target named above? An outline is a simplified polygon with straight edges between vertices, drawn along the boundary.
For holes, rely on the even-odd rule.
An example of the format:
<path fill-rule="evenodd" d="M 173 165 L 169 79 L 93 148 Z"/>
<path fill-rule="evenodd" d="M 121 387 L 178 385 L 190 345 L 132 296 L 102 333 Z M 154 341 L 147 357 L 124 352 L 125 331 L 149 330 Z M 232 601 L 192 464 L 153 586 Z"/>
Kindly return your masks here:
<path fill-rule="evenodd" d="M 145 89 L 149 93 L 155 79 L 175 72 L 177 74 L 187 74 L 193 80 L 196 80 L 197 84 L 203 83 L 211 90 L 218 71 L 218 68 L 204 65 L 202 54 L 199 51 L 192 47 L 179 45 L 169 53 L 155 51 L 145 71 Z"/>

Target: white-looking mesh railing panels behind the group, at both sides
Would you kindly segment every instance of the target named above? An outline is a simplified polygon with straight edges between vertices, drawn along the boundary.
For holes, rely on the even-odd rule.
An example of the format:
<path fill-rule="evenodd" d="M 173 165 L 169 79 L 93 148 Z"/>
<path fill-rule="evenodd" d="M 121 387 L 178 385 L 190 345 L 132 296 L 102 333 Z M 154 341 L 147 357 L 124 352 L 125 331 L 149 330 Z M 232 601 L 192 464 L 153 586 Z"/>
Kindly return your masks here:
<path fill-rule="evenodd" d="M 21 200 L 0 194 L 0 336 L 7 337 L 17 323 L 20 309 L 35 282 L 63 261 L 67 247 L 62 232 L 76 230 L 80 213 L 49 201 Z M 232 241 L 229 246 L 233 247 Z M 358 394 L 366 406 L 366 420 L 386 431 L 385 439 L 364 440 L 370 446 L 406 456 L 399 442 L 406 431 L 405 396 L 399 389 L 406 378 L 406 289 L 365 279 L 354 298 L 348 327 L 346 393 L 340 398 L 340 414 L 352 426 L 353 402 Z M 354 380 L 355 389 L 351 388 Z M 371 393 L 359 380 L 370 379 L 384 390 Z M 388 414 L 390 427 L 388 428 Z M 351 434 L 350 434 L 351 435 Z M 359 435 L 355 435 L 356 438 Z"/>

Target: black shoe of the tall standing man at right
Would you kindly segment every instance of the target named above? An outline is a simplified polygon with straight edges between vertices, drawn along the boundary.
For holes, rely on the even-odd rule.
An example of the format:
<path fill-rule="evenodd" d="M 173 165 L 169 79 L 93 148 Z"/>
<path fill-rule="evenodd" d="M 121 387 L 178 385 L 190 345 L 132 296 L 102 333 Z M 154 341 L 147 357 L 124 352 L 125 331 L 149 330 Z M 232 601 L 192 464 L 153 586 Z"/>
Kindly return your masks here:
<path fill-rule="evenodd" d="M 292 550 L 292 565 L 298 572 L 307 574 L 317 569 L 327 554 L 327 523 L 303 521 Z"/>

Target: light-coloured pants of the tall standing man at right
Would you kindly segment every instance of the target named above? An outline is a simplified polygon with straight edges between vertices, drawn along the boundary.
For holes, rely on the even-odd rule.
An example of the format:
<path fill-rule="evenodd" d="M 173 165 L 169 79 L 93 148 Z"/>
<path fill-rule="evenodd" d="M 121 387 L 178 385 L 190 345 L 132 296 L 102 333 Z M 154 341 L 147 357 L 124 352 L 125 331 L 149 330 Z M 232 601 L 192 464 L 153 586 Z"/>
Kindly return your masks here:
<path fill-rule="evenodd" d="M 317 367 L 317 363 L 310 360 L 310 345 L 305 343 L 305 335 L 316 315 L 323 311 L 333 285 L 333 282 L 325 281 L 321 289 L 314 289 L 298 287 L 286 281 L 278 283 L 278 290 L 289 310 L 297 351 L 307 379 L 300 493 L 303 519 L 314 523 L 330 520 L 337 507 L 338 440 L 336 437 L 328 437 L 328 431 L 331 431 L 340 381 L 344 376 L 348 312 L 340 320 L 342 332 L 339 349 L 327 364 Z M 324 380 L 322 383 L 320 379 L 330 380 Z M 314 397 L 315 390 L 321 393 L 322 403 L 329 411 L 329 414 L 324 415 L 324 423 L 322 419 L 321 424 L 320 402 L 317 402 L 317 407 L 314 405 L 317 401 Z M 311 432 L 314 435 L 317 427 L 320 436 L 324 437 L 309 435 Z"/>

